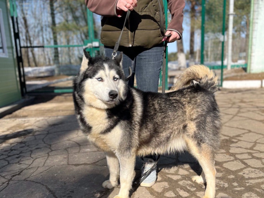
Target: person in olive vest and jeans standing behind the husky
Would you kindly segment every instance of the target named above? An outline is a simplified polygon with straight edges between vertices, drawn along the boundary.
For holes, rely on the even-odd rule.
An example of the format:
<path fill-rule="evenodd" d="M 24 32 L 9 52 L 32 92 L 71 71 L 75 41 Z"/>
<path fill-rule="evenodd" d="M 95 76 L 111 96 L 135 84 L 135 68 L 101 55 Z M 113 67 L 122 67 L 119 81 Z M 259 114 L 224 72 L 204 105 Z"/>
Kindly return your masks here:
<path fill-rule="evenodd" d="M 126 23 L 117 54 L 123 52 L 123 70 L 132 76 L 129 86 L 134 86 L 136 77 L 137 88 L 142 91 L 158 91 L 159 75 L 163 59 L 163 42 L 174 42 L 182 39 L 182 22 L 184 0 L 167 0 L 172 20 L 165 27 L 165 15 L 162 0 L 85 0 L 87 8 L 101 15 L 101 42 L 105 47 L 105 55 L 112 56 L 115 43 L 120 36 L 126 17 Z M 170 37 L 164 35 L 171 34 Z M 156 156 L 145 156 L 142 159 L 142 174 L 155 163 Z M 157 167 L 140 184 L 150 187 L 157 180 Z"/>

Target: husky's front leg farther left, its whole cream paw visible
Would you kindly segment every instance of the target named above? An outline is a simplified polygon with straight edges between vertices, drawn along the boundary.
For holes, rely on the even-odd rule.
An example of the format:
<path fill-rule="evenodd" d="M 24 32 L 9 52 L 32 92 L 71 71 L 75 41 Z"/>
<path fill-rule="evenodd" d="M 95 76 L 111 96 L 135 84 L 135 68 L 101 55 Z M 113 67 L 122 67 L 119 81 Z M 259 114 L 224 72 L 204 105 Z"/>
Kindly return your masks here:
<path fill-rule="evenodd" d="M 119 178 L 119 161 L 114 153 L 105 153 L 107 166 L 109 169 L 109 180 L 106 180 L 102 183 L 102 187 L 104 188 L 114 188 L 118 184 Z"/>

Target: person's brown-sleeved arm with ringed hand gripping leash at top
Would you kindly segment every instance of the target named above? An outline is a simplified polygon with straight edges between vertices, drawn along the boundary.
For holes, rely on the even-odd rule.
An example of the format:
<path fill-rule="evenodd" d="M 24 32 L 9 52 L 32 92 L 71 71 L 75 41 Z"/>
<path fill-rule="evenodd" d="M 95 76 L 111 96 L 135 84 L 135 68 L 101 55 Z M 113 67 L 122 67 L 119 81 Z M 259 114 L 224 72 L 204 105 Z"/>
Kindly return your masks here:
<path fill-rule="evenodd" d="M 123 11 L 132 11 L 137 6 L 137 0 L 85 0 L 85 3 L 90 11 L 106 17 L 121 17 Z"/>

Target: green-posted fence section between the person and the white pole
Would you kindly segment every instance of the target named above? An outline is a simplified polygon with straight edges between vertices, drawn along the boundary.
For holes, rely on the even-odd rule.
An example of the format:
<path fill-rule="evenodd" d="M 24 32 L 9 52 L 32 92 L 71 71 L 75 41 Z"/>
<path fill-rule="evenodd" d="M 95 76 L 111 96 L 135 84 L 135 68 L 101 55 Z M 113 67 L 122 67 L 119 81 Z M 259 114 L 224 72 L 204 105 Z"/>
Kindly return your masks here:
<path fill-rule="evenodd" d="M 225 20 L 226 0 L 202 0 L 201 64 L 214 70 L 219 86 L 223 82 Z"/>

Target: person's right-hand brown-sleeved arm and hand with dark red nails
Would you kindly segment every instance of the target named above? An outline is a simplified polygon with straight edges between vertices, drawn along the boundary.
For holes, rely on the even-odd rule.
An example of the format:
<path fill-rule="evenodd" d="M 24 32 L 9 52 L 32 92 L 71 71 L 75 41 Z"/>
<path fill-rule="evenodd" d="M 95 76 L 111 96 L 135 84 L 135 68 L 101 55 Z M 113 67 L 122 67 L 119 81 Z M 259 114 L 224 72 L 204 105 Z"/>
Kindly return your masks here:
<path fill-rule="evenodd" d="M 183 22 L 183 8 L 185 7 L 185 0 L 169 0 L 168 8 L 172 14 L 172 20 L 168 25 L 166 35 L 172 34 L 167 38 L 168 42 L 182 39 L 182 22 Z M 165 40 L 165 39 L 163 39 Z"/>

